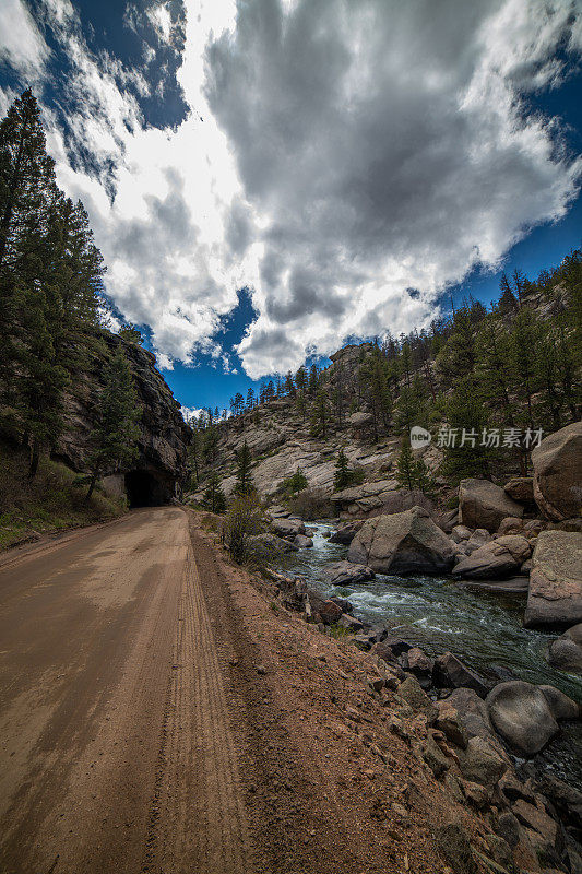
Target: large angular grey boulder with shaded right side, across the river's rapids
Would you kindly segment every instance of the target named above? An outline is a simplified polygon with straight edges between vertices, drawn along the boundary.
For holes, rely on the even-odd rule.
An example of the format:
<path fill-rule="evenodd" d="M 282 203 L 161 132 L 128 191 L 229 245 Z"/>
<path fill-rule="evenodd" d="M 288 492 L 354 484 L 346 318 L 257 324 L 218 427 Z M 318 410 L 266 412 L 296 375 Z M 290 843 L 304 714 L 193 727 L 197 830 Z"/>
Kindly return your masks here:
<path fill-rule="evenodd" d="M 451 569 L 454 550 L 428 511 L 413 507 L 369 519 L 352 541 L 347 557 L 378 574 L 442 574 Z"/>

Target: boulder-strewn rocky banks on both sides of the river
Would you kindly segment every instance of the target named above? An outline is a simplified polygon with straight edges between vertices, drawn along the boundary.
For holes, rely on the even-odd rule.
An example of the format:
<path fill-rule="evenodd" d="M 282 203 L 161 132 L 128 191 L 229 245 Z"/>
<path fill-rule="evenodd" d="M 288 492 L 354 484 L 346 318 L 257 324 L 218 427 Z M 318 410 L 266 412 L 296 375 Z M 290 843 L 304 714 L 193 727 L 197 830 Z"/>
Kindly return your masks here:
<path fill-rule="evenodd" d="M 329 540 L 347 547 L 347 560 L 322 567 L 322 578 L 340 587 L 366 584 L 376 575 L 447 574 L 459 586 L 521 590 L 527 593 L 525 627 L 566 628 L 549 646 L 550 664 L 580 673 L 582 533 L 579 517 L 568 513 L 580 512 L 581 440 L 580 423 L 551 435 L 534 454 L 534 476 L 514 477 L 504 488 L 463 481 L 459 510 L 448 519 L 414 505 L 340 523 Z M 378 494 L 385 497 L 385 491 Z M 268 536 L 296 551 L 312 545 L 310 533 L 280 508 Z M 423 716 L 419 755 L 449 790 L 495 822 L 509 848 L 504 870 L 510 863 L 526 871 L 582 870 L 582 794 L 548 773 L 537 755 L 580 720 L 579 700 L 508 668 L 478 671 L 453 652 L 431 654 L 355 616 L 346 598 L 310 591 L 305 577 L 273 577 L 286 609 L 365 653 L 372 696 L 394 693 L 411 714 Z M 577 755 L 582 760 L 582 751 Z"/>

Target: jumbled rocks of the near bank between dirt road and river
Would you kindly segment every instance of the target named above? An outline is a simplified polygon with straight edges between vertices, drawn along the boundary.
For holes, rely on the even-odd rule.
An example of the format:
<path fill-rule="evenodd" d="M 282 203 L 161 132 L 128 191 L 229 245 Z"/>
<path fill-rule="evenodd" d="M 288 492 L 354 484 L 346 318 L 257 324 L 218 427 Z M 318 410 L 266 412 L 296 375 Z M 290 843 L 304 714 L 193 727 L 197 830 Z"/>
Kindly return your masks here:
<path fill-rule="evenodd" d="M 496 676 L 451 652 L 432 658 L 389 628 L 355 617 L 346 599 L 323 600 L 305 578 L 274 572 L 273 580 L 286 610 L 340 638 L 344 650 L 366 664 L 369 695 L 395 706 L 391 731 L 412 745 L 459 803 L 492 825 L 503 870 L 579 870 L 582 794 L 535 758 L 565 721 L 580 719 L 577 701 L 509 670 Z M 411 722 L 423 725 L 420 735 Z"/>

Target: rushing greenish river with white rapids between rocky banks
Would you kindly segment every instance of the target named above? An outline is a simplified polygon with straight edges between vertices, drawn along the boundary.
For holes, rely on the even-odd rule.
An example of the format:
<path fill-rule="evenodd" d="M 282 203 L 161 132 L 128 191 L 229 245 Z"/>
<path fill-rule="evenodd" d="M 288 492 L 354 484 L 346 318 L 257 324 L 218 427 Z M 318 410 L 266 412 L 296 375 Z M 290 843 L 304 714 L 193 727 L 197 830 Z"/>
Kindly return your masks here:
<path fill-rule="evenodd" d="M 323 535 L 335 530 L 329 522 L 309 523 L 313 548 L 299 550 L 285 568 L 305 576 L 310 587 L 328 598 L 346 598 L 354 615 L 397 629 L 435 656 L 450 650 L 476 670 L 510 669 L 521 680 L 547 683 L 582 702 L 582 678 L 553 669 L 545 659 L 555 635 L 523 628 L 524 595 L 496 594 L 462 586 L 443 577 L 378 575 L 355 586 L 331 586 L 322 568 L 346 557 L 345 546 Z M 545 767 L 582 784 L 582 725 L 567 724 L 560 737 L 542 754 Z"/>

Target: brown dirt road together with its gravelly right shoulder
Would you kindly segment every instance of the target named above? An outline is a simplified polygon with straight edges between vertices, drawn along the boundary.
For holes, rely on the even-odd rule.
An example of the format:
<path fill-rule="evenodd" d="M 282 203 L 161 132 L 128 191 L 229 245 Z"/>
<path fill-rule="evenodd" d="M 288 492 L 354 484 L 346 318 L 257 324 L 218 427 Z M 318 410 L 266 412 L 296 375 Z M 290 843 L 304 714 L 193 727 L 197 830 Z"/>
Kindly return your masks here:
<path fill-rule="evenodd" d="M 202 522 L 0 559 L 0 874 L 450 874 L 426 720 Z"/>

